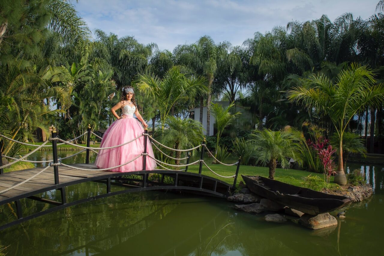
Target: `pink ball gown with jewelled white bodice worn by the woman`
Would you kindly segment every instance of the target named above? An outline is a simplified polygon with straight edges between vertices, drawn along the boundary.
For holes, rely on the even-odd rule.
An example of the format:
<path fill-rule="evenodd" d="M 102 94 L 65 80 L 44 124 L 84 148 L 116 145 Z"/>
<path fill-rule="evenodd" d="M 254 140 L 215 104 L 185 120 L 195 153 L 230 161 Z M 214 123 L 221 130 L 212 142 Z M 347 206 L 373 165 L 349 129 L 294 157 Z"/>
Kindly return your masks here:
<path fill-rule="evenodd" d="M 136 111 L 135 106 L 125 105 L 122 109 L 122 114 L 126 118 L 121 118 L 112 123 L 111 126 L 105 131 L 103 140 L 101 140 L 101 148 L 117 146 L 133 140 L 144 132 L 141 123 L 133 118 Z M 100 150 L 96 157 L 95 165 L 99 169 L 118 166 L 126 163 L 144 151 L 144 136 L 138 138 L 131 143 L 118 148 L 111 148 Z M 149 139 L 147 139 L 147 152 L 148 155 L 154 157 L 153 150 Z M 141 171 L 143 168 L 143 156 L 140 156 L 133 162 L 113 168 L 109 171 L 126 172 L 126 171 Z M 156 161 L 146 156 L 146 170 L 153 170 L 156 168 Z"/>

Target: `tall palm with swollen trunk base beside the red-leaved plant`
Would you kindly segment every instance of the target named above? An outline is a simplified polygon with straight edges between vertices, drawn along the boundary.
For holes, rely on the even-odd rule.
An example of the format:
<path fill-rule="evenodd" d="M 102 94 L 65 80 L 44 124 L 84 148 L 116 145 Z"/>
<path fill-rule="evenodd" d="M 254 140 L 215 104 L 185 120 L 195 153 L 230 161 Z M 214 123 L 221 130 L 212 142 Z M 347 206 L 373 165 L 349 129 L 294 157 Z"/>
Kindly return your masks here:
<path fill-rule="evenodd" d="M 343 165 L 343 135 L 356 113 L 367 105 L 377 105 L 384 98 L 384 86 L 374 85 L 374 73 L 367 66 L 352 64 L 342 70 L 335 83 L 324 76 L 306 78 L 302 85 L 287 91 L 287 98 L 329 116 L 340 142 L 335 182 L 346 184 Z"/>

